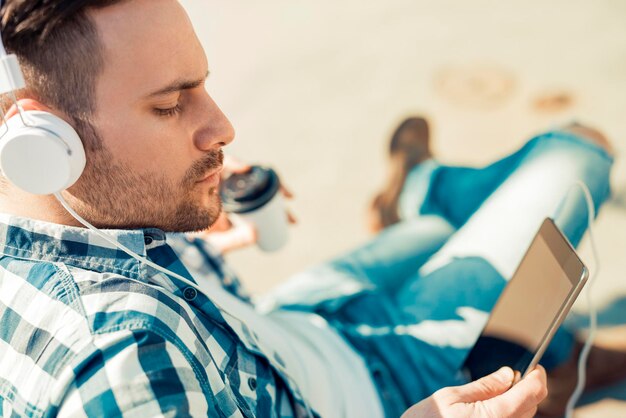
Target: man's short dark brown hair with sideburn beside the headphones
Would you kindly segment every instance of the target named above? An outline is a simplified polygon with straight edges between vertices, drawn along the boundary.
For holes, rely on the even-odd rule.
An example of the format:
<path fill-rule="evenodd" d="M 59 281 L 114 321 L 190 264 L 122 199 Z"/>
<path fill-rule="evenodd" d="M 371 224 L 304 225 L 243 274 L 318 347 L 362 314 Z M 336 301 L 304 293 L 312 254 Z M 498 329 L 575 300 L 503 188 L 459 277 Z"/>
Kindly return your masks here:
<path fill-rule="evenodd" d="M 5 48 L 17 55 L 26 79 L 18 96 L 66 114 L 89 150 L 102 147 L 91 116 L 104 48 L 87 12 L 122 1 L 5 0 L 0 10 Z"/>

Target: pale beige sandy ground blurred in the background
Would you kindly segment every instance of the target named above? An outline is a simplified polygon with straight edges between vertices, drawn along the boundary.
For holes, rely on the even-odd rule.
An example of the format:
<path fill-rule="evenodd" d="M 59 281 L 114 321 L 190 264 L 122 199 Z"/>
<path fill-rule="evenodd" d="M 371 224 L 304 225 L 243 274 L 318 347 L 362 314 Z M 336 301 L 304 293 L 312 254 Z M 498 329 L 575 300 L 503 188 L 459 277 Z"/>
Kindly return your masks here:
<path fill-rule="evenodd" d="M 626 153 L 626 2 L 184 0 L 237 129 L 230 152 L 277 168 L 297 198 L 288 248 L 229 256 L 254 292 L 368 238 L 387 138 L 426 114 L 437 155 L 480 165 L 578 118 Z M 626 164 L 597 223 L 603 305 L 626 295 Z M 619 204 L 621 199 L 621 204 Z M 593 266 L 587 243 L 583 258 Z M 577 306 L 578 311 L 584 307 Z M 613 309 L 612 320 L 626 308 Z M 626 386 L 578 417 L 625 416 Z M 593 399 L 592 401 L 595 401 Z"/>

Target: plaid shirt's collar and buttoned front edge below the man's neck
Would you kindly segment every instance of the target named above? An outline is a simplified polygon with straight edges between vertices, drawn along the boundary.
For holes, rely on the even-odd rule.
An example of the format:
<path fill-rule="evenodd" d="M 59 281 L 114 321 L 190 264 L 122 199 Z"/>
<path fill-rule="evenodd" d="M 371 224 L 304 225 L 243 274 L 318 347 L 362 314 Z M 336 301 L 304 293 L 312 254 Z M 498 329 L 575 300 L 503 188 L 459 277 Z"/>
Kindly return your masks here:
<path fill-rule="evenodd" d="M 166 243 L 166 234 L 159 229 L 102 230 L 116 242 L 123 244 L 136 254 L 178 273 L 191 281 L 195 280 L 182 263 L 178 254 Z M 180 236 L 172 237 L 185 239 Z M 195 247 L 192 247 L 195 248 Z M 158 284 L 173 294 L 184 298 L 190 305 L 202 311 L 215 325 L 230 333 L 234 341 L 242 342 L 246 348 L 269 360 L 255 342 L 254 333 L 245 323 L 240 323 L 243 335 L 237 334 L 222 315 L 223 311 L 207 294 L 198 292 L 176 277 L 154 270 L 118 250 L 95 232 L 85 229 L 21 218 L 0 213 L 0 257 L 6 255 L 20 259 L 63 263 L 99 273 L 119 274 L 138 281 Z M 196 254 L 197 255 L 197 254 Z M 209 259 L 206 260 L 207 262 Z M 213 265 L 213 263 L 210 263 Z M 223 275 L 222 268 L 213 265 L 214 274 Z"/>

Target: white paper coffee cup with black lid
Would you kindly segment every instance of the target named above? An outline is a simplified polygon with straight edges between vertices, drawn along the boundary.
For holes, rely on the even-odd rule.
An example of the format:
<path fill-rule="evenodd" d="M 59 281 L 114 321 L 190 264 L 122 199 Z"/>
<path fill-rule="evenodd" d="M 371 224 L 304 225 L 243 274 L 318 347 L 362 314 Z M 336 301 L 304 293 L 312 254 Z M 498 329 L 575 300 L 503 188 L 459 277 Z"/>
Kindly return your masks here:
<path fill-rule="evenodd" d="M 261 250 L 276 251 L 287 243 L 289 222 L 274 170 L 253 166 L 246 173 L 233 174 L 221 183 L 220 195 L 226 212 L 255 226 Z"/>

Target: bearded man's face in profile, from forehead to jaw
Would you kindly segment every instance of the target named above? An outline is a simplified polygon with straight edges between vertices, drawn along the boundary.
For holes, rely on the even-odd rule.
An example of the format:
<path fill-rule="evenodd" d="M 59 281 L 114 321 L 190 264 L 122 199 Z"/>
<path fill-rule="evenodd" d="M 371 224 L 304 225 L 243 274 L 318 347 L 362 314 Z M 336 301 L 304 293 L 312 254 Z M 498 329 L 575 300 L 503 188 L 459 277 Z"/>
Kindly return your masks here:
<path fill-rule="evenodd" d="M 94 125 L 73 204 L 100 227 L 208 227 L 220 212 L 221 148 L 233 128 L 204 88 L 207 59 L 176 0 L 91 12 L 104 45 Z"/>

